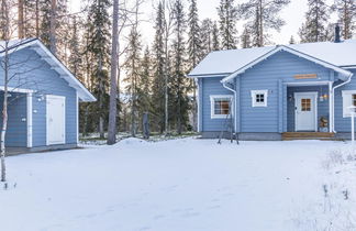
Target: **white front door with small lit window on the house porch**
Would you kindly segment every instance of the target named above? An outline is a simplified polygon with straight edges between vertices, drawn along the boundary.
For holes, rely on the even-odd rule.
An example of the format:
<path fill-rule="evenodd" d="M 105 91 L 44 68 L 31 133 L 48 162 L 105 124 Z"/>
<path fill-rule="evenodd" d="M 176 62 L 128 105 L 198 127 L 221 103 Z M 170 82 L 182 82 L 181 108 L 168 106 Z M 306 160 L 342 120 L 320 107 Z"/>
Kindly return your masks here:
<path fill-rule="evenodd" d="M 318 92 L 296 92 L 296 131 L 318 131 Z"/>

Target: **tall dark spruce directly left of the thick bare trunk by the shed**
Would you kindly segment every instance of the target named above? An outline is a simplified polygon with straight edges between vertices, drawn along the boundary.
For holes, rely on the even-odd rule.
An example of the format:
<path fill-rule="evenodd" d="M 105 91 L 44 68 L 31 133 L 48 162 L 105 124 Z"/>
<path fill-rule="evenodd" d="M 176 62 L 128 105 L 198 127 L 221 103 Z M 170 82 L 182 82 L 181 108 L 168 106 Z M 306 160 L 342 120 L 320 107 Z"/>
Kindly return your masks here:
<path fill-rule="evenodd" d="M 108 117 L 108 85 L 110 61 L 109 0 L 91 0 L 88 12 L 88 47 L 91 59 L 90 85 L 97 97 L 92 105 L 92 119 L 99 124 L 100 138 L 104 139 L 104 121 Z"/>

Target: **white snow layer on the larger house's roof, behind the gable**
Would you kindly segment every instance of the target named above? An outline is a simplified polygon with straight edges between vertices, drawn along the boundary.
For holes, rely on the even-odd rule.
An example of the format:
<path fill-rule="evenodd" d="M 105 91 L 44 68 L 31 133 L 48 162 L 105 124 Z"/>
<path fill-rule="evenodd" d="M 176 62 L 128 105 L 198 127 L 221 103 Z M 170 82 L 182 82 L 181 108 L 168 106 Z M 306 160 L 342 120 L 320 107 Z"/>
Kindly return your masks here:
<path fill-rule="evenodd" d="M 338 67 L 356 66 L 356 40 L 347 40 L 341 43 L 322 42 L 286 46 Z M 212 52 L 191 70 L 189 76 L 231 74 L 276 47 L 265 46 Z"/>

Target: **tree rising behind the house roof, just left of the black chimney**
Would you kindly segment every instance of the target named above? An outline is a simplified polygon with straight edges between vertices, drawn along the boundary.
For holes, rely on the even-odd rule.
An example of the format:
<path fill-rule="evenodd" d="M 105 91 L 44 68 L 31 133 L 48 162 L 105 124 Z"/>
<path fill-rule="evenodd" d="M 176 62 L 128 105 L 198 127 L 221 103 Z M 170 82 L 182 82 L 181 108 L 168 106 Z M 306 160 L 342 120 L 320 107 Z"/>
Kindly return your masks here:
<path fill-rule="evenodd" d="M 325 0 L 308 0 L 309 10 L 305 13 L 305 22 L 299 30 L 302 43 L 326 41 L 326 26 L 330 18 L 330 9 Z"/>

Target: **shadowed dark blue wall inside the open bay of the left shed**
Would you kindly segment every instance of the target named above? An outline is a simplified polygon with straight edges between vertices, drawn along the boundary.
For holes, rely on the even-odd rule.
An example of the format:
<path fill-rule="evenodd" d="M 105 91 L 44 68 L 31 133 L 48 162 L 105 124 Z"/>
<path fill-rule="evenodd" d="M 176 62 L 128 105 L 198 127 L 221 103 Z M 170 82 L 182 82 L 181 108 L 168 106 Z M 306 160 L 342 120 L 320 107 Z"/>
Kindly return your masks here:
<path fill-rule="evenodd" d="M 0 94 L 0 111 L 2 111 L 3 92 Z M 5 135 L 7 146 L 26 146 L 27 145 L 27 123 L 26 119 L 26 95 L 11 94 L 9 98 L 9 120 L 8 131 Z M 2 117 L 0 117 L 0 125 L 2 125 Z"/>

